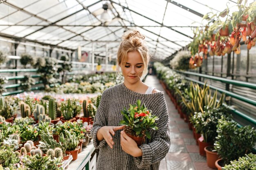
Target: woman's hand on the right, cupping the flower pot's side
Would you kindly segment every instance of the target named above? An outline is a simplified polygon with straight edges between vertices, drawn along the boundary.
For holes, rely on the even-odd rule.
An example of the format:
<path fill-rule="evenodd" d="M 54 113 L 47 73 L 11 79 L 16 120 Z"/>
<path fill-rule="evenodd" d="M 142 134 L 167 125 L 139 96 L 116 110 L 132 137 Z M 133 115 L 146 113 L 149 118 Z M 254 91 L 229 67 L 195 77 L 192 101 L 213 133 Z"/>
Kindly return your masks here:
<path fill-rule="evenodd" d="M 142 156 L 142 150 L 137 146 L 135 140 L 128 137 L 124 131 L 121 131 L 120 143 L 124 152 L 132 155 L 133 157 Z"/>

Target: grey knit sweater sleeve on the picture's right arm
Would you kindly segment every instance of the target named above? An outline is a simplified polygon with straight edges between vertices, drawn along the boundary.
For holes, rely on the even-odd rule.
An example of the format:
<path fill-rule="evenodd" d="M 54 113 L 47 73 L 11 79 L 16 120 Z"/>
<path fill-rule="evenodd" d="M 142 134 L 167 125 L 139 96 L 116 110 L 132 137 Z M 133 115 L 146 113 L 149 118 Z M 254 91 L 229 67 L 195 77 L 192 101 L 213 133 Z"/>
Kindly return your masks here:
<path fill-rule="evenodd" d="M 164 107 L 159 114 L 158 130 L 149 144 L 139 146 L 142 150 L 142 157 L 134 157 L 135 164 L 139 169 L 150 169 L 152 164 L 164 159 L 169 151 L 171 144 L 169 116 L 165 100 L 161 103 Z"/>

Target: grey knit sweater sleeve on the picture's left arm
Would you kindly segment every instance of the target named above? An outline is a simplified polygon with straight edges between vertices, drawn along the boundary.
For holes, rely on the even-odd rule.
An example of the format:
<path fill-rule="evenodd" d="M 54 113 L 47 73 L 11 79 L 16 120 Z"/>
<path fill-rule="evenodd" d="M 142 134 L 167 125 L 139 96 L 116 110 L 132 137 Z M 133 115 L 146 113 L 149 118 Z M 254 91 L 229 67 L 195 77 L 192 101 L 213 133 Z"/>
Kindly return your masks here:
<path fill-rule="evenodd" d="M 100 101 L 99 107 L 97 109 L 97 113 L 95 114 L 94 123 L 93 123 L 93 127 L 92 127 L 92 130 L 91 130 L 93 145 L 96 149 L 100 149 L 100 148 L 102 148 L 103 146 L 105 146 L 107 144 L 105 139 L 103 139 L 102 141 L 97 140 L 98 130 L 103 126 L 108 125 L 105 105 L 106 105 L 106 101 L 105 101 L 105 91 L 104 91 L 102 96 L 101 96 L 101 101 Z"/>

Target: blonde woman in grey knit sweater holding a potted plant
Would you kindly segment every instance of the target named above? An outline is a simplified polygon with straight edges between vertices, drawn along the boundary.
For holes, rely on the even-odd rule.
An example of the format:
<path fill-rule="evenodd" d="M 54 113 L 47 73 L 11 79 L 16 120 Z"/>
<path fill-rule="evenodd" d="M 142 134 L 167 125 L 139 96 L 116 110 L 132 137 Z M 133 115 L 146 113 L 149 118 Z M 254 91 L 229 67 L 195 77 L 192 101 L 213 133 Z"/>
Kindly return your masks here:
<path fill-rule="evenodd" d="M 164 92 L 141 82 L 149 62 L 144 36 L 139 31 L 123 35 L 117 53 L 124 82 L 106 89 L 94 117 L 91 130 L 94 147 L 99 149 L 97 170 L 158 170 L 160 161 L 170 147 L 169 117 Z M 158 130 L 150 130 L 151 139 L 137 146 L 136 142 L 118 126 L 123 119 L 121 110 L 137 99 L 157 115 Z"/>

